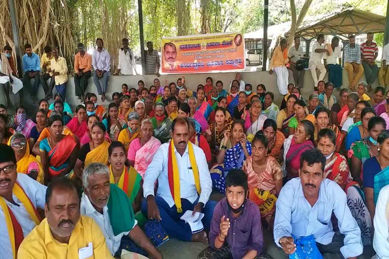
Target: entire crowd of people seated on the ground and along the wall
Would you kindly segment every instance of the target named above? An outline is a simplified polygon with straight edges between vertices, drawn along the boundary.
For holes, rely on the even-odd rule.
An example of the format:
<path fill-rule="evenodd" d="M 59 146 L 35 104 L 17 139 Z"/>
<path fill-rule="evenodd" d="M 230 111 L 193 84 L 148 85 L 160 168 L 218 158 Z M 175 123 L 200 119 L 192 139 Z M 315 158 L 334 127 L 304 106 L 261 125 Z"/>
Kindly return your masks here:
<path fill-rule="evenodd" d="M 348 46 L 349 53 L 361 50 L 358 60 L 346 56 L 357 74 L 366 66 L 378 71 L 370 35 L 364 47 L 352 40 Z M 388 257 L 389 93 L 383 84 L 370 99 L 373 75 L 339 89 L 341 67 L 333 64 L 339 40 L 329 49 L 323 41 L 319 35 L 318 57 L 309 61 L 320 75 L 307 100 L 300 79 L 280 78 L 289 62 L 300 72 L 296 38 L 295 54 L 288 58 L 281 40 L 270 66 L 283 85 L 281 105 L 264 84 L 253 87 L 237 73 L 230 85 L 208 77 L 196 91 L 184 77 L 165 85 L 155 78 L 149 88 L 142 80 L 137 88 L 123 84 L 107 109 L 86 92 L 93 66 L 105 99 L 109 54 L 102 39 L 93 57 L 79 45 L 74 80 L 82 104 L 76 107 L 65 102 L 66 61 L 49 48 L 40 61 L 26 45 L 31 96 L 42 78 L 54 81 L 42 83 L 46 98 L 32 118 L 23 106 L 9 114 L 0 105 L 2 256 L 111 258 L 127 250 L 162 258 L 157 248 L 174 238 L 208 243 L 201 259 L 309 251 L 367 258 L 367 247 L 374 247 L 368 258 Z M 120 60 L 132 60 L 128 41 L 123 47 Z M 324 65 L 320 55 L 327 55 Z M 123 63 L 119 69 L 128 72 Z M 334 82 L 323 81 L 327 69 Z M 210 199 L 212 192 L 223 198 Z M 181 219 L 188 217 L 201 217 L 200 227 Z M 271 236 L 268 244 L 264 235 Z"/>

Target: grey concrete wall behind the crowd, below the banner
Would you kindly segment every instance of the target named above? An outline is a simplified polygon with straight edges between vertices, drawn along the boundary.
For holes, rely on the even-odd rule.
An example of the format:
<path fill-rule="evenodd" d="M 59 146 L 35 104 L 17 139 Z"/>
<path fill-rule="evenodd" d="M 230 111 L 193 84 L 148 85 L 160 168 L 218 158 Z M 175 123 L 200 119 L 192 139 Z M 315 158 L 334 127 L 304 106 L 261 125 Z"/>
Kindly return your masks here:
<path fill-rule="evenodd" d="M 176 82 L 179 77 L 185 76 L 185 84 L 186 86 L 191 89 L 195 90 L 197 88 L 198 84 L 205 84 L 206 78 L 208 76 L 212 77 L 214 84 L 217 80 L 221 80 L 223 82 L 224 88 L 228 89 L 230 81 L 235 79 L 236 72 L 218 72 L 218 73 L 199 73 L 199 74 L 170 74 L 170 75 L 161 75 L 159 77 L 161 81 L 161 85 L 165 84 L 165 81 L 168 82 Z M 110 76 L 109 77 L 109 83 L 108 88 L 106 92 L 106 100 L 103 103 L 104 106 L 108 106 L 108 104 L 111 101 L 112 93 L 114 92 L 121 92 L 122 91 L 122 84 L 127 83 L 129 85 L 129 88 L 134 87 L 137 89 L 137 83 L 138 80 L 143 80 L 145 83 L 145 87 L 149 88 L 153 84 L 154 78 L 157 76 L 155 75 L 133 75 L 133 76 Z M 242 79 L 246 83 L 251 83 L 253 85 L 253 91 L 256 91 L 256 85 L 259 83 L 263 83 L 266 86 L 266 90 L 273 92 L 275 94 L 275 103 L 281 104 L 282 96 L 279 94 L 278 88 L 277 88 L 277 76 L 276 73 L 269 74 L 267 71 L 256 71 L 256 72 L 242 72 Z M 291 73 L 289 74 L 289 81 L 293 80 L 293 76 Z M 326 77 L 324 78 L 325 81 L 328 80 L 328 74 L 326 74 Z M 365 80 L 364 75 L 361 78 L 361 81 Z M 374 83 L 374 86 L 377 85 L 377 80 Z M 347 73 L 343 69 L 343 87 L 348 87 L 348 78 Z M 305 71 L 304 75 L 304 88 L 302 90 L 302 95 L 304 98 L 307 98 L 309 94 L 313 92 L 314 88 L 314 82 L 312 79 L 312 76 L 310 75 L 309 70 Z M 31 98 L 28 94 L 28 91 L 26 89 L 24 90 L 24 102 L 23 105 L 27 107 L 27 111 L 29 114 L 33 114 L 37 109 L 37 104 L 32 104 Z M 6 99 L 3 90 L 0 90 L 0 103 L 5 104 Z M 87 92 L 92 92 L 97 95 L 96 87 L 93 83 L 93 78 L 89 78 L 89 85 L 87 88 Z M 336 91 L 334 91 L 336 93 Z M 54 89 L 55 93 L 55 89 Z M 337 94 L 337 93 L 336 93 Z M 38 90 L 38 99 L 44 98 L 44 91 L 42 88 Z M 15 100 L 16 99 L 16 100 Z M 18 102 L 18 97 L 11 96 L 11 101 L 13 103 Z M 98 98 L 98 104 L 102 104 L 100 98 Z M 53 100 L 49 101 L 50 103 L 53 102 Z M 66 86 L 66 102 L 69 103 L 69 105 L 74 108 L 76 105 L 80 104 L 80 100 L 77 99 L 75 96 L 74 91 L 74 80 L 73 77 L 69 77 L 69 80 L 67 81 Z"/>

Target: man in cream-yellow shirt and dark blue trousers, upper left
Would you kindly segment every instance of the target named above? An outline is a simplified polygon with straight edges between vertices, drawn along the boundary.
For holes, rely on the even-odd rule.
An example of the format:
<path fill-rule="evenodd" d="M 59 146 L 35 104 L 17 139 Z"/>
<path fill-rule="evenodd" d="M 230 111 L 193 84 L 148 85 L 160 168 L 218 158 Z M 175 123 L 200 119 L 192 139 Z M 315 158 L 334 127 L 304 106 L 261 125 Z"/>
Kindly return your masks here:
<path fill-rule="evenodd" d="M 65 101 L 66 96 L 66 82 L 67 82 L 67 64 L 66 59 L 58 56 L 58 50 L 53 49 L 52 60 L 51 60 L 51 72 L 53 73 L 55 80 L 55 89 L 61 96 L 62 100 Z M 50 92 L 49 95 L 52 95 Z"/>

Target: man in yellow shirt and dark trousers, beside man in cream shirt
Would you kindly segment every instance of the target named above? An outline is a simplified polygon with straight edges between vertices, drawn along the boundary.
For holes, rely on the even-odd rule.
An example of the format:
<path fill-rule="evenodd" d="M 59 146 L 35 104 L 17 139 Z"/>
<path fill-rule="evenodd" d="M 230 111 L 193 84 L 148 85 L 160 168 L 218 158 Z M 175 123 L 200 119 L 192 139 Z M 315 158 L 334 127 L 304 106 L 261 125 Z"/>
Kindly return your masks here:
<path fill-rule="evenodd" d="M 51 72 L 51 60 L 53 56 L 51 55 L 51 47 L 46 46 L 44 48 L 44 54 L 41 57 L 41 83 L 43 91 L 45 91 L 45 98 L 50 99 L 53 97 L 52 91 L 54 88 L 54 78 L 53 73 Z M 49 85 L 47 85 L 47 80 L 50 79 Z"/>

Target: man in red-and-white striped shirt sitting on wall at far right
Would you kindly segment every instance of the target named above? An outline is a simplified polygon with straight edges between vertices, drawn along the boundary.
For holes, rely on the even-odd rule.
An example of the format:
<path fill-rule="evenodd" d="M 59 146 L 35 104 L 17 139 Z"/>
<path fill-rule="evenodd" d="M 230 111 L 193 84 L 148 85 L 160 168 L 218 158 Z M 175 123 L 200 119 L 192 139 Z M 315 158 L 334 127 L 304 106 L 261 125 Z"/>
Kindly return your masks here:
<path fill-rule="evenodd" d="M 371 90 L 371 85 L 375 81 L 378 75 L 378 66 L 375 64 L 375 60 L 378 57 L 378 47 L 373 42 L 374 34 L 372 32 L 367 33 L 367 40 L 361 45 L 361 59 L 362 66 L 365 70 L 365 77 L 367 82 L 367 89 Z"/>

